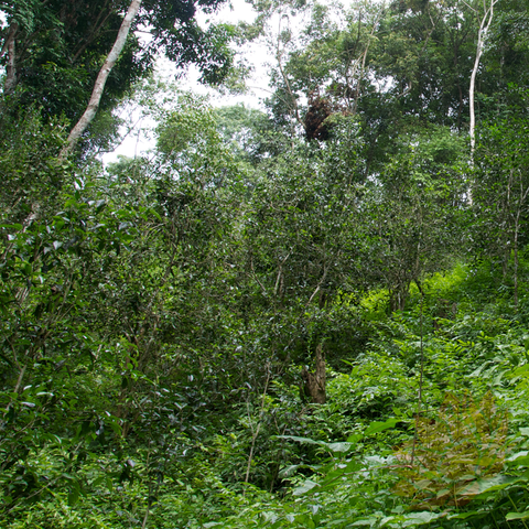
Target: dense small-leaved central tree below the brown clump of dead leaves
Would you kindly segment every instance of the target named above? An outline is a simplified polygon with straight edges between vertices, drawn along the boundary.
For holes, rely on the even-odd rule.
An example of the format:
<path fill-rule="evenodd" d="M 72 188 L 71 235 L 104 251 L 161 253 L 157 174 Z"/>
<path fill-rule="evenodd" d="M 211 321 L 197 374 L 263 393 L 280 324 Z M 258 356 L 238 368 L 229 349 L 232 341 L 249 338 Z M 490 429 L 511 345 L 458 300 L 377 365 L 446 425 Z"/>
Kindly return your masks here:
<path fill-rule="evenodd" d="M 336 361 L 345 337 L 356 339 L 346 322 L 364 288 L 363 140 L 354 118 L 335 119 L 327 149 L 296 140 L 276 163 L 257 168 L 241 219 L 246 313 L 252 327 L 266 325 L 260 343 L 279 373 L 291 361 L 312 363 L 317 347 Z"/>

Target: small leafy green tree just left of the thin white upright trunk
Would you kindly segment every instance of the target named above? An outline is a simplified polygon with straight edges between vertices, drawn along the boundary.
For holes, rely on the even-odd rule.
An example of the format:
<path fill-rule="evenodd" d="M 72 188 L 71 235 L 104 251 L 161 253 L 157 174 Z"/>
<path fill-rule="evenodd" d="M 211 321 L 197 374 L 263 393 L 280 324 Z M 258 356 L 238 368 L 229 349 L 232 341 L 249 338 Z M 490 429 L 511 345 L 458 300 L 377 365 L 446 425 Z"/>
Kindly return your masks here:
<path fill-rule="evenodd" d="M 400 141 L 399 154 L 367 184 L 363 206 L 366 274 L 388 289 L 391 312 L 406 307 L 412 282 L 420 284 L 457 253 L 464 204 L 460 137 L 432 128 Z"/>

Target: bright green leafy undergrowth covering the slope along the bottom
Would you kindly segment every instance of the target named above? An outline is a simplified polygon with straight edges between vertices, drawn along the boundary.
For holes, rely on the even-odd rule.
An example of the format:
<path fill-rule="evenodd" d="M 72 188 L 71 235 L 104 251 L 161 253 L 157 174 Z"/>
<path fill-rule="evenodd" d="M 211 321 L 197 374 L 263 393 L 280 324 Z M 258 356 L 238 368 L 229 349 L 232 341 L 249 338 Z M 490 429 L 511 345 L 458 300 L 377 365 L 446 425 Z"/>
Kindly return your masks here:
<path fill-rule="evenodd" d="M 276 380 L 258 404 L 228 408 L 229 423 L 203 414 L 198 433 L 151 439 L 129 458 L 93 443 L 76 473 L 74 442 L 35 452 L 34 468 L 12 465 L 1 486 L 4 500 L 31 479 L 40 493 L 13 501 L 1 526 L 527 527 L 529 307 L 496 303 L 497 279 L 476 273 L 424 280 L 424 296 L 412 287 L 391 316 L 384 292 L 370 294 L 369 337 L 327 373 L 325 404 Z M 64 461 L 71 473 L 55 475 Z M 52 493 L 58 479 L 64 492 Z"/>

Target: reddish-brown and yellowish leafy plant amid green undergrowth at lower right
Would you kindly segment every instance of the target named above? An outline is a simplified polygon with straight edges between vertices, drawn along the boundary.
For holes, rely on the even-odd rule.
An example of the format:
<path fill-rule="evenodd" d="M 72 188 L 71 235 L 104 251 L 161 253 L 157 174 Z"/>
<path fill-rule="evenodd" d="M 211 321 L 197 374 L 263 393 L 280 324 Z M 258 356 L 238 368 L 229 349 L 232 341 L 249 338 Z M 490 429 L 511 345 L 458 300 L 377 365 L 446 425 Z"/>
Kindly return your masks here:
<path fill-rule="evenodd" d="M 415 418 L 414 440 L 396 453 L 395 493 L 417 509 L 471 501 L 481 492 L 477 482 L 504 468 L 507 418 L 490 392 L 477 402 L 447 393 L 435 417 Z"/>

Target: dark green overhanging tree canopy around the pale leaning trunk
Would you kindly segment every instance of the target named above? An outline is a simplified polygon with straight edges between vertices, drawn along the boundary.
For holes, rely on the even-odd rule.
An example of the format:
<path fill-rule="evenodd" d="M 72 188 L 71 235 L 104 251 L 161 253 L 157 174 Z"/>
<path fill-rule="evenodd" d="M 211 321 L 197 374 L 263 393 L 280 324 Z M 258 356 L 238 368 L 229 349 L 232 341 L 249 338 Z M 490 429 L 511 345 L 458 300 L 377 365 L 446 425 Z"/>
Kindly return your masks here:
<path fill-rule="evenodd" d="M 35 104 L 46 118 L 64 115 L 77 122 L 116 43 L 122 13 L 134 3 L 97 0 L 88 9 L 79 0 L 0 4 L 8 22 L 0 33 L 4 50 L 1 58 L 11 65 L 4 96 L 10 96 L 12 111 Z M 218 83 L 231 64 L 233 52 L 227 43 L 233 31 L 222 24 L 203 31 L 194 15 L 197 9 L 210 12 L 219 3 L 220 0 L 141 2 L 138 14 L 129 21 L 129 37 L 112 57 L 116 62 L 99 107 L 114 108 L 138 79 L 149 74 L 162 50 L 179 67 L 196 64 L 204 82 Z M 149 41 L 139 37 L 144 31 L 150 33 Z M 108 64 L 104 69 L 107 68 Z M 4 107 L 7 102 L 4 97 Z"/>

